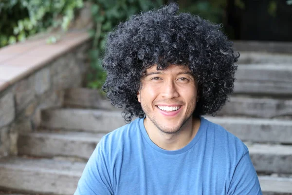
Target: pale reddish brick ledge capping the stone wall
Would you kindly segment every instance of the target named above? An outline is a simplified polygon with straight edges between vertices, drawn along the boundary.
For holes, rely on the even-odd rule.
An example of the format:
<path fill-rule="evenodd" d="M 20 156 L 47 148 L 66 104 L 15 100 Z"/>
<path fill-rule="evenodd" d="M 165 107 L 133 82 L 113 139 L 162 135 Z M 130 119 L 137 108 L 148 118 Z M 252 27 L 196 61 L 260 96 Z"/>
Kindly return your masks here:
<path fill-rule="evenodd" d="M 47 44 L 47 37 L 0 49 L 0 92 L 91 39 L 87 32 L 68 32 L 57 43 Z"/>

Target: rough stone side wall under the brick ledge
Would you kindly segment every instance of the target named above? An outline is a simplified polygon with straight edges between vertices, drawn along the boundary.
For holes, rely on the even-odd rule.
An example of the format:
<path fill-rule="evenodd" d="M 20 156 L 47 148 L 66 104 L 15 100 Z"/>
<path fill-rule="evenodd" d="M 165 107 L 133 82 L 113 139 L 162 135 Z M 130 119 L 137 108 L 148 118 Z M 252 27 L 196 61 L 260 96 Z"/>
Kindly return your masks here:
<path fill-rule="evenodd" d="M 61 46 L 64 48 L 66 44 Z M 41 109 L 60 107 L 63 104 L 64 89 L 82 85 L 88 69 L 86 55 L 89 48 L 89 39 L 79 40 L 78 44 L 71 44 L 63 49 L 61 56 L 55 55 L 50 60 L 46 58 L 48 63 L 30 71 L 24 78 L 18 78 L 14 83 L 6 82 L 5 87 L 1 86 L 0 157 L 17 155 L 19 133 L 31 132 L 37 128 Z"/>

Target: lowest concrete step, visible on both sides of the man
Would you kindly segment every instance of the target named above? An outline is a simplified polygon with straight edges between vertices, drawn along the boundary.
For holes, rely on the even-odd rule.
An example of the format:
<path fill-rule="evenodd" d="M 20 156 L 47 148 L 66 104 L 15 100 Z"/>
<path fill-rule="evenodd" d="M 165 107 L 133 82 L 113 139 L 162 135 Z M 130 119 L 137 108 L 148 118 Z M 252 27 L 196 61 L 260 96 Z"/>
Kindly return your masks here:
<path fill-rule="evenodd" d="M 0 187 L 31 193 L 72 195 L 85 163 L 10 157 L 0 159 Z M 259 176 L 264 195 L 289 195 L 292 178 Z"/>

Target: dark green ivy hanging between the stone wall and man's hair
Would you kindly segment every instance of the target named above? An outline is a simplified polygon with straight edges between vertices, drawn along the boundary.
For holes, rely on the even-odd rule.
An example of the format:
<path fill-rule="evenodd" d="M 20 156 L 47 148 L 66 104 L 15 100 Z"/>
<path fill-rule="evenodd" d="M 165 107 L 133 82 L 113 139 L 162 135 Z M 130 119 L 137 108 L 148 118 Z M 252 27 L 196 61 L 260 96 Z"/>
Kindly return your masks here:
<path fill-rule="evenodd" d="M 88 74 L 88 87 L 100 89 L 106 79 L 101 67 L 105 50 L 106 35 L 119 22 L 131 15 L 163 5 L 163 0 L 91 0 L 91 14 L 94 28 L 90 31 L 93 46 L 90 51 L 91 70 Z"/>

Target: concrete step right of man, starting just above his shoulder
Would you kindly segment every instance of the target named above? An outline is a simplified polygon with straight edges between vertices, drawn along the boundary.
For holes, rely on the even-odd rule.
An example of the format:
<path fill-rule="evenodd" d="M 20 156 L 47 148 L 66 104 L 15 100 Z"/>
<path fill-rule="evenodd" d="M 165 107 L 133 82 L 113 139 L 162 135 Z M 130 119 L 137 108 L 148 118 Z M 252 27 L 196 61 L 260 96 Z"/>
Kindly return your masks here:
<path fill-rule="evenodd" d="M 243 141 L 292 144 L 292 121 L 244 117 L 205 117 Z"/>

